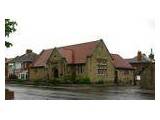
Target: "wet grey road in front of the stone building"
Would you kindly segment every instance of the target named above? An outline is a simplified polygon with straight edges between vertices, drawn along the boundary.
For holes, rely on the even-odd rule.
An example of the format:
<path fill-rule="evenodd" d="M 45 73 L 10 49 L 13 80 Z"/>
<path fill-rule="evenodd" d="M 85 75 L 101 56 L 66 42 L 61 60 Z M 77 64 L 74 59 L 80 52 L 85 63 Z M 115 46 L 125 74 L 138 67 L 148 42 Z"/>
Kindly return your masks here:
<path fill-rule="evenodd" d="M 7 84 L 16 100 L 154 100 L 153 91 L 138 87 L 55 86 L 38 88 Z"/>

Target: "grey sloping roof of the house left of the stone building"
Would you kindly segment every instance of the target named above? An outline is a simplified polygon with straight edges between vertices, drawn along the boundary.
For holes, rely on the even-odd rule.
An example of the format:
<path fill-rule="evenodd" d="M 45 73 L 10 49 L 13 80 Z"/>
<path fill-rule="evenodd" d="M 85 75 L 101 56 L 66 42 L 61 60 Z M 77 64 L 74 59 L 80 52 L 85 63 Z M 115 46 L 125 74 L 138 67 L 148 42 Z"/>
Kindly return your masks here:
<path fill-rule="evenodd" d="M 25 53 L 21 56 L 13 58 L 10 62 L 32 62 L 37 57 L 37 54 L 34 52 Z"/>

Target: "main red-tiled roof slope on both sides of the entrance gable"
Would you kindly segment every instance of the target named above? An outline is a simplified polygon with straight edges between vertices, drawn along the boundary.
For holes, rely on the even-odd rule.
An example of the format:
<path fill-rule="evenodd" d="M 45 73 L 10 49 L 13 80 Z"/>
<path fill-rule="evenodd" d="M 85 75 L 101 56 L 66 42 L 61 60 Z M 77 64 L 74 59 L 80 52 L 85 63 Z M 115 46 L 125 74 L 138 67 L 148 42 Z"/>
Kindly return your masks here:
<path fill-rule="evenodd" d="M 99 41 L 99 40 L 98 40 Z M 85 63 L 87 56 L 93 53 L 98 41 L 56 48 L 68 64 Z M 45 66 L 53 49 L 43 50 L 33 64 L 33 67 Z"/>

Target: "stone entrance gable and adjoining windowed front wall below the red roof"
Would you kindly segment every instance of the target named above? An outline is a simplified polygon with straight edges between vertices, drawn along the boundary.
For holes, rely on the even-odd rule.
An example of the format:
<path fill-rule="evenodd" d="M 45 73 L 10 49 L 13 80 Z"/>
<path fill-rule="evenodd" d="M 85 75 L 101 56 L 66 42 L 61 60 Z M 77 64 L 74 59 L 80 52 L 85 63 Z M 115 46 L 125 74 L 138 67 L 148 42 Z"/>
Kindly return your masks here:
<path fill-rule="evenodd" d="M 57 49 L 54 49 L 49 60 L 48 60 L 48 73 L 49 79 L 55 78 L 54 71 L 58 70 L 58 77 L 72 76 L 73 73 L 77 77 L 86 76 L 85 64 L 67 64 L 66 60 L 60 55 Z"/>

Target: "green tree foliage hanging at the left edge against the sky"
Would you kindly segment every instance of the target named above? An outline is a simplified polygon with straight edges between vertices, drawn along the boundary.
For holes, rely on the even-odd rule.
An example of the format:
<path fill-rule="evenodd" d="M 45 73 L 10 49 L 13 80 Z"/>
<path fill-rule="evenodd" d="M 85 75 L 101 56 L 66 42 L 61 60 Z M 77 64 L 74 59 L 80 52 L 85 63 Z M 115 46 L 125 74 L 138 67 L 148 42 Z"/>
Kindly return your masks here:
<path fill-rule="evenodd" d="M 16 31 L 15 26 L 17 23 L 15 21 L 11 21 L 10 19 L 5 19 L 5 37 L 9 37 L 9 35 Z M 5 46 L 7 48 L 12 46 L 12 43 L 5 41 Z"/>

